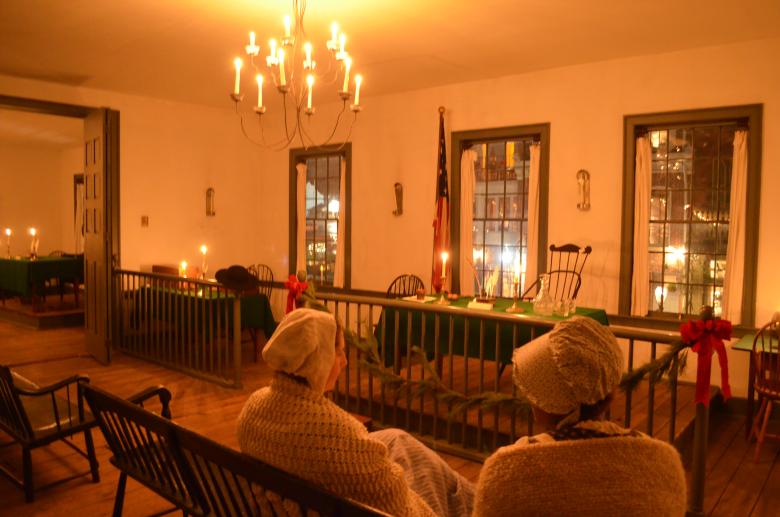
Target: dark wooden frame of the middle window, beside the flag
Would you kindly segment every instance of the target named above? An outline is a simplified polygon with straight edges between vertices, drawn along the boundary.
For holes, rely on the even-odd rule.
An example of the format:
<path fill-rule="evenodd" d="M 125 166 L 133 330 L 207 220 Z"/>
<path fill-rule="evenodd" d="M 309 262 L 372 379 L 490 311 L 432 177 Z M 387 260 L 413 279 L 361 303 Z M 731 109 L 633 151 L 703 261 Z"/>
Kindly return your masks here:
<path fill-rule="evenodd" d="M 506 126 L 487 129 L 453 131 L 450 134 L 450 257 L 452 258 L 451 286 L 460 292 L 460 158 L 472 142 L 531 138 L 541 145 L 539 156 L 539 242 L 537 250 L 538 273 L 547 271 L 547 206 L 550 182 L 550 123 Z M 530 252 L 530 250 L 529 250 Z"/>

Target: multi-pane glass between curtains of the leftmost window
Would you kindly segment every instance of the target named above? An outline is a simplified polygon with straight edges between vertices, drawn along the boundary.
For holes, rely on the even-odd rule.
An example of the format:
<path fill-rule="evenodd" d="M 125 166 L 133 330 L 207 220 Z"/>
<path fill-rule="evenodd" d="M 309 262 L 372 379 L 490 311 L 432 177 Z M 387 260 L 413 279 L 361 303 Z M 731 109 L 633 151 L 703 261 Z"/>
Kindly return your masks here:
<path fill-rule="evenodd" d="M 306 272 L 333 285 L 339 228 L 340 153 L 306 157 Z"/>

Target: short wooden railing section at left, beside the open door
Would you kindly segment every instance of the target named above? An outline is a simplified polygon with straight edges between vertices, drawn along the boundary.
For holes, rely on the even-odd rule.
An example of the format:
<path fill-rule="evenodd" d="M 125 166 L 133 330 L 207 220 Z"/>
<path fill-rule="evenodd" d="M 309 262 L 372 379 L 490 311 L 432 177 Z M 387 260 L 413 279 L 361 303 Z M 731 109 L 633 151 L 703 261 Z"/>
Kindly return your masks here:
<path fill-rule="evenodd" d="M 223 286 L 114 271 L 113 346 L 224 386 L 241 386 L 241 302 Z"/>

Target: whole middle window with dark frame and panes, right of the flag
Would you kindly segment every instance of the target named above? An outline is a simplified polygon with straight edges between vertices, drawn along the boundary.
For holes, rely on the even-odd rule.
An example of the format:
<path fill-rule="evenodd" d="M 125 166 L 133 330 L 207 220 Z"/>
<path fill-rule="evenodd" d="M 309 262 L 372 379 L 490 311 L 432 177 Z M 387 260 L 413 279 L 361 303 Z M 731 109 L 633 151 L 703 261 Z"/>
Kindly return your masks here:
<path fill-rule="evenodd" d="M 515 268 L 523 270 L 528 260 L 528 192 L 531 145 L 535 142 L 541 145 L 539 244 L 538 249 L 530 250 L 530 253 L 536 253 L 539 267 L 544 267 L 548 135 L 548 125 L 464 131 L 452 135 L 453 251 L 460 241 L 461 155 L 466 149 L 475 153 L 472 256 L 453 259 L 453 271 L 472 269 L 473 264 L 474 274 L 468 281 L 473 282 L 475 293 L 478 285 L 493 283 L 496 296 L 512 296 Z M 471 259 L 471 263 L 466 259 Z M 453 275 L 453 289 L 460 290 L 460 283 L 456 282 L 459 276 Z M 524 280 L 530 285 L 534 279 Z M 522 291 L 524 286 L 520 289 Z"/>

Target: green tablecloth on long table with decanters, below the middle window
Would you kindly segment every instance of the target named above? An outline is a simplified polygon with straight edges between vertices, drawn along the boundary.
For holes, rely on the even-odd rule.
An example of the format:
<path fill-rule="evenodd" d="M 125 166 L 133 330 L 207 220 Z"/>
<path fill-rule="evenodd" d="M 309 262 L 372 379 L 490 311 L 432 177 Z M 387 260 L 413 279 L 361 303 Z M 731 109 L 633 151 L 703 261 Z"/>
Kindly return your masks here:
<path fill-rule="evenodd" d="M 460 298 L 450 304 L 450 307 L 465 309 L 471 298 Z M 417 303 L 417 302 L 412 302 Z M 429 302 L 435 303 L 435 302 Z M 498 299 L 493 306 L 492 312 L 506 312 L 506 309 L 512 305 L 510 299 Z M 562 321 L 564 318 L 561 316 L 539 316 L 533 313 L 533 304 L 530 302 L 518 302 L 518 305 L 525 309 L 525 312 L 515 315 L 517 317 L 517 324 L 499 324 L 499 343 L 498 343 L 498 356 L 501 364 L 509 364 L 512 362 L 512 352 L 514 350 L 514 337 L 513 328 L 517 327 L 517 345 L 523 345 L 531 340 L 532 325 L 524 324 L 523 319 L 528 316 L 534 318 L 542 318 L 552 323 Z M 490 311 L 484 311 L 490 312 Z M 464 311 L 465 313 L 465 311 Z M 480 318 L 479 316 L 469 316 L 469 335 L 465 336 L 465 321 L 466 316 L 460 311 L 452 311 L 453 316 L 453 354 L 463 355 L 464 343 L 467 343 L 468 357 L 480 357 Z M 422 321 L 425 320 L 425 343 L 424 348 L 429 357 L 432 357 L 435 353 L 436 347 L 434 346 L 434 331 L 435 331 L 435 317 L 431 312 L 418 312 L 408 309 L 395 309 L 387 307 L 382 310 L 380 317 L 380 324 L 377 326 L 375 336 L 379 340 L 380 350 L 382 349 L 382 343 L 385 343 L 385 364 L 391 366 L 395 360 L 395 319 L 398 314 L 398 352 L 401 356 L 406 355 L 406 344 L 408 335 L 409 316 L 411 314 L 412 331 L 411 340 L 412 344 L 419 346 L 422 335 Z M 594 320 L 608 325 L 607 313 L 603 309 L 591 309 L 587 307 L 577 308 L 578 316 L 587 316 Z M 439 353 L 442 355 L 449 354 L 449 327 L 450 327 L 450 313 L 439 313 Z M 496 360 L 496 322 L 485 322 L 485 334 L 484 334 L 484 346 L 482 350 L 482 357 L 489 361 Z M 540 335 L 546 332 L 546 329 L 536 328 L 536 335 Z"/>

